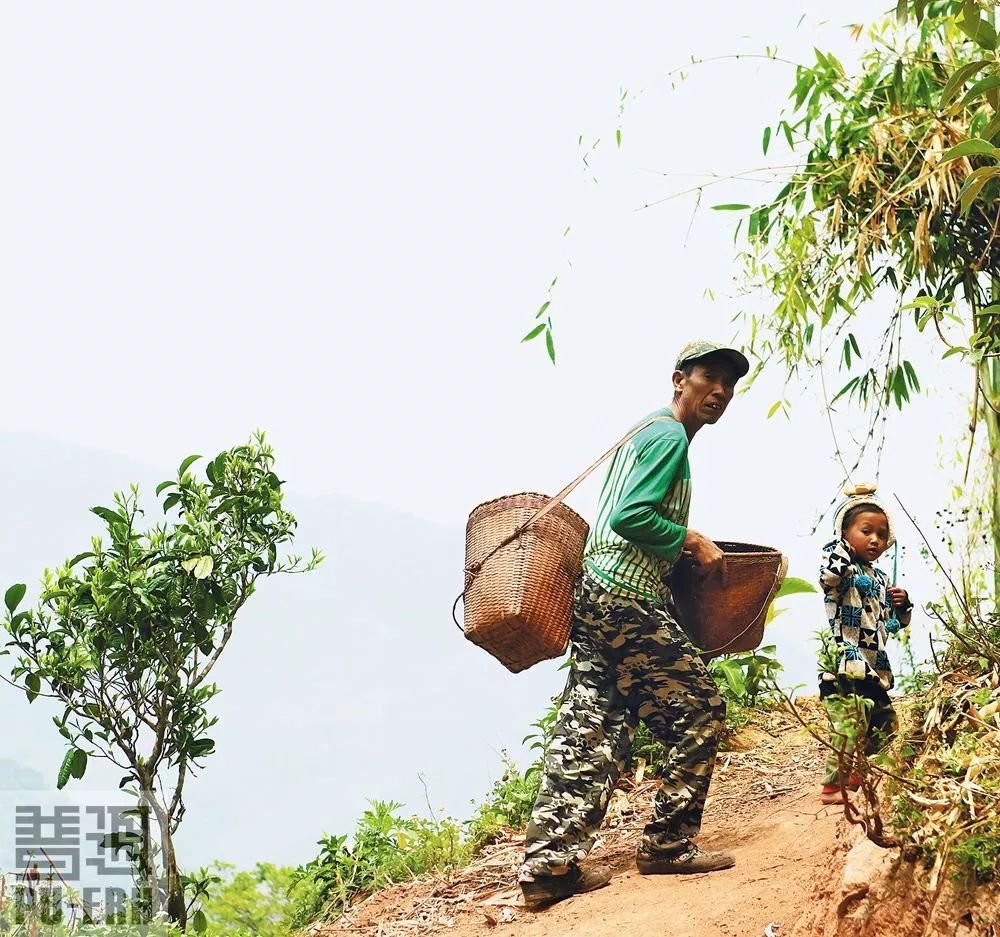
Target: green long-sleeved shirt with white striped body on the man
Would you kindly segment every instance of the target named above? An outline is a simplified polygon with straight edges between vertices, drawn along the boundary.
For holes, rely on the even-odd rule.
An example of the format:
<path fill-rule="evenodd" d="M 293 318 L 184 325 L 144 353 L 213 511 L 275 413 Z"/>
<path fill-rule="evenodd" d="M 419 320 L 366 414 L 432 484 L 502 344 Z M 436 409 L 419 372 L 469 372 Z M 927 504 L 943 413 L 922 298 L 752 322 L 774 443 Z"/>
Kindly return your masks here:
<path fill-rule="evenodd" d="M 684 427 L 668 408 L 615 453 L 601 489 L 584 569 L 614 595 L 662 602 L 680 556 L 691 505 Z M 636 424 L 637 426 L 640 424 Z"/>

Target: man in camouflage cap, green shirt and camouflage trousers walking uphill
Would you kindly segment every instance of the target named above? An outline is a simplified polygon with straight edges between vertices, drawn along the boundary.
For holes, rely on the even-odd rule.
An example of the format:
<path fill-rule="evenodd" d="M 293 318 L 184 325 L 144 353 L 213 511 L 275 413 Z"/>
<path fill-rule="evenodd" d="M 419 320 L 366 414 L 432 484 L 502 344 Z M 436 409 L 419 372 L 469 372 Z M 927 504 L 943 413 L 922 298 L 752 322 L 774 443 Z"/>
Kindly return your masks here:
<path fill-rule="evenodd" d="M 573 608 L 572 662 L 525 840 L 519 880 L 538 909 L 606 885 L 590 852 L 641 719 L 667 751 L 641 873 L 730 868 L 693 842 L 701 827 L 726 707 L 672 614 L 668 577 L 682 551 L 704 575 L 725 556 L 687 526 L 695 433 L 718 422 L 749 371 L 737 350 L 695 342 L 677 358 L 669 407 L 615 454 L 584 552 Z"/>

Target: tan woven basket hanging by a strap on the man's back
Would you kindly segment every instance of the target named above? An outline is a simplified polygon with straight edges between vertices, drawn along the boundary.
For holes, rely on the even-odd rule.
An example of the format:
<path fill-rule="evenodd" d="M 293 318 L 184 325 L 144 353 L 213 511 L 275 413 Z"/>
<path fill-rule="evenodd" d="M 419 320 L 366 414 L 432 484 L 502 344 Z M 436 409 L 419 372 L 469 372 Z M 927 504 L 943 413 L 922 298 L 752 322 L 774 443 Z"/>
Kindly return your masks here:
<path fill-rule="evenodd" d="M 549 500 L 523 492 L 475 508 L 465 529 L 466 570 L 478 569 L 498 543 Z M 573 587 L 587 530 L 576 511 L 557 504 L 474 577 L 467 573 L 465 636 L 513 673 L 559 657 L 569 641 Z"/>

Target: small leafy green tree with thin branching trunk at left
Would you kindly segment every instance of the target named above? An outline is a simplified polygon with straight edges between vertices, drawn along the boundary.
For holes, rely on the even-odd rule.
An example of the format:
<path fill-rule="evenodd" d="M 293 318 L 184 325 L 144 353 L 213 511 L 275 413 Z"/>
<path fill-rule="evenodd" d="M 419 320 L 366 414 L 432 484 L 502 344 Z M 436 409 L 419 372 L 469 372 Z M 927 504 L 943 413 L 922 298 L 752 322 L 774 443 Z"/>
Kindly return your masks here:
<path fill-rule="evenodd" d="M 47 696 L 64 707 L 54 717 L 69 743 L 58 786 L 83 777 L 93 757 L 122 769 L 121 786 L 148 811 L 159 840 L 162 886 L 152 837 L 137 860 L 149 910 L 165 909 L 182 928 L 188 908 L 174 834 L 185 782 L 215 748 L 209 704 L 219 688 L 209 678 L 257 581 L 322 560 L 315 550 L 308 561 L 279 558 L 296 521 L 282 506 L 262 433 L 216 456 L 206 481 L 189 471 L 199 458 L 186 458 L 156 489 L 169 521 L 142 529 L 134 485 L 113 507 L 92 508 L 107 542 L 95 537 L 89 551 L 46 571 L 34 609 L 18 611 L 26 588 L 11 586 L 4 621 L 8 682 L 29 702 Z"/>

